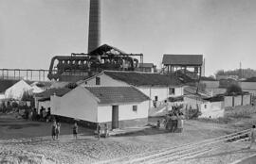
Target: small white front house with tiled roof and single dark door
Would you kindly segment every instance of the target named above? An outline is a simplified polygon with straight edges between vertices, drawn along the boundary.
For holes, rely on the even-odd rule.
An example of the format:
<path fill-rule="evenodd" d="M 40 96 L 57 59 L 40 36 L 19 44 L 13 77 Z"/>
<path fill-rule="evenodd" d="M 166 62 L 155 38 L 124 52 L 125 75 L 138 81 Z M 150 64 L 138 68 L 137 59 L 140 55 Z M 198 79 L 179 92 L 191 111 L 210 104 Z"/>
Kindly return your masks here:
<path fill-rule="evenodd" d="M 112 129 L 145 125 L 150 98 L 134 87 L 82 87 L 50 98 L 51 114 Z"/>

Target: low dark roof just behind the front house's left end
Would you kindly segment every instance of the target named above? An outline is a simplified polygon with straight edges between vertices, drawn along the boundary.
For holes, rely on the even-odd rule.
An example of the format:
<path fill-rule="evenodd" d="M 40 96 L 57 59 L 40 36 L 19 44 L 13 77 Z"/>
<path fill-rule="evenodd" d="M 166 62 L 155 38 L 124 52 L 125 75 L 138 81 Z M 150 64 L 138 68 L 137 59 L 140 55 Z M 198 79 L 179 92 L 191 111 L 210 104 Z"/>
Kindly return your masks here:
<path fill-rule="evenodd" d="M 61 97 L 70 90 L 71 89 L 68 89 L 68 88 L 49 89 L 49 90 L 45 90 L 45 91 L 40 92 L 40 93 L 36 93 L 35 96 L 36 97 L 42 97 L 42 98 L 49 98 L 51 95 L 53 95 L 55 93 L 57 96 Z"/>

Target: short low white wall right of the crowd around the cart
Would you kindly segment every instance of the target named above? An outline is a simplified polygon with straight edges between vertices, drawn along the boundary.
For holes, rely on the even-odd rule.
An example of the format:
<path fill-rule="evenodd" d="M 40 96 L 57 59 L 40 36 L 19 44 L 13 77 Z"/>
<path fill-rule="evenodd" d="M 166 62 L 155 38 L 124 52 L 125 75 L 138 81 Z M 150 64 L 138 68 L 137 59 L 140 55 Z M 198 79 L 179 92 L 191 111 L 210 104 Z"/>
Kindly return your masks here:
<path fill-rule="evenodd" d="M 224 117 L 224 102 L 205 102 L 201 105 L 202 115 L 200 118 L 219 118 Z"/>

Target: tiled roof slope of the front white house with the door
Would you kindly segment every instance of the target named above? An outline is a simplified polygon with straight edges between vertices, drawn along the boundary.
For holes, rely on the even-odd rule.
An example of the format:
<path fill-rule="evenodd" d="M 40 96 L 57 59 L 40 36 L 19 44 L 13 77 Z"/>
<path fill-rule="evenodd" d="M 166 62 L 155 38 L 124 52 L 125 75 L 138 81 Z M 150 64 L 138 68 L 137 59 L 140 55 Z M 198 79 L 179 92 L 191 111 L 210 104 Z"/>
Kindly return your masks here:
<path fill-rule="evenodd" d="M 150 100 L 148 96 L 134 87 L 85 87 L 94 94 L 100 104 L 140 103 Z"/>

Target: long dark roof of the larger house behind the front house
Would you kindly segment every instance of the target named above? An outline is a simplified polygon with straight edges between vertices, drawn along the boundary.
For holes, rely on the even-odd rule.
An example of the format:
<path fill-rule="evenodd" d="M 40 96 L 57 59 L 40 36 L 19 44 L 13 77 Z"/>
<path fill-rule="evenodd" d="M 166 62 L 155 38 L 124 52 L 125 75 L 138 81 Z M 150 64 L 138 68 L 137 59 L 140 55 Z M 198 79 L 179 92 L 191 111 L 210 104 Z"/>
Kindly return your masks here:
<path fill-rule="evenodd" d="M 104 74 L 133 86 L 177 86 L 179 80 L 174 76 L 139 72 L 104 71 Z"/>

